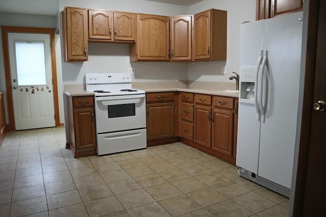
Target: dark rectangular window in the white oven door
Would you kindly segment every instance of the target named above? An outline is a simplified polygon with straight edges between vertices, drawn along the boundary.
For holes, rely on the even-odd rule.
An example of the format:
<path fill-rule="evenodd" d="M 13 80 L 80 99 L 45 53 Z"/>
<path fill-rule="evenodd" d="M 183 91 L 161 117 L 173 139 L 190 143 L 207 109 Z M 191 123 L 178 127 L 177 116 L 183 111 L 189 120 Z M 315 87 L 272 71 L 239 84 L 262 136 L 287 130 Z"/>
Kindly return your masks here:
<path fill-rule="evenodd" d="M 135 116 L 135 104 L 121 104 L 121 105 L 109 105 L 107 106 L 107 117 L 128 117 Z"/>

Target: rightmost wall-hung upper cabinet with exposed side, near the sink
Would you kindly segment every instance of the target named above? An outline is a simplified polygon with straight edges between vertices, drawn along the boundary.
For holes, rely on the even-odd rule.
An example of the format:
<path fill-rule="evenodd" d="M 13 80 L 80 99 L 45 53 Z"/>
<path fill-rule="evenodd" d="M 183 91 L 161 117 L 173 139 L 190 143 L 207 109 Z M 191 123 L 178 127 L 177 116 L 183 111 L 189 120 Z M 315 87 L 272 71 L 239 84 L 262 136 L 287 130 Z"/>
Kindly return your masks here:
<path fill-rule="evenodd" d="M 193 60 L 226 60 L 227 12 L 195 14 L 193 37 Z"/>

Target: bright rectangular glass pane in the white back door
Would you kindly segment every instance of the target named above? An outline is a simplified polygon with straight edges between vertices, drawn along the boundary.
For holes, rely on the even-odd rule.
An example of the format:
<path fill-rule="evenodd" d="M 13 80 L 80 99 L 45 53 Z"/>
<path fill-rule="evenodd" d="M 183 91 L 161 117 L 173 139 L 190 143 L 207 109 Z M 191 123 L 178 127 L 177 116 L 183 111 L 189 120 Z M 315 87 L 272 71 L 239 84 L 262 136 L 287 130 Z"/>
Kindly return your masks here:
<path fill-rule="evenodd" d="M 44 42 L 15 42 L 18 86 L 46 85 Z"/>

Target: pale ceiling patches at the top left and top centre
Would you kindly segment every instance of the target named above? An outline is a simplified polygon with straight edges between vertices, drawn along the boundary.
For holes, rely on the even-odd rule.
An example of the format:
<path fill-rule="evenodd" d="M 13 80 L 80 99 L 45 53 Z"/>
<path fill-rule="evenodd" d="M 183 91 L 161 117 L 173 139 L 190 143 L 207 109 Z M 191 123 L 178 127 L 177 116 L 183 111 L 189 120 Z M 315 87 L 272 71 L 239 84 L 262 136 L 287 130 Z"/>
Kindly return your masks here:
<path fill-rule="evenodd" d="M 203 0 L 145 0 L 173 5 L 191 6 Z M 0 0 L 0 12 L 56 16 L 59 0 Z"/>

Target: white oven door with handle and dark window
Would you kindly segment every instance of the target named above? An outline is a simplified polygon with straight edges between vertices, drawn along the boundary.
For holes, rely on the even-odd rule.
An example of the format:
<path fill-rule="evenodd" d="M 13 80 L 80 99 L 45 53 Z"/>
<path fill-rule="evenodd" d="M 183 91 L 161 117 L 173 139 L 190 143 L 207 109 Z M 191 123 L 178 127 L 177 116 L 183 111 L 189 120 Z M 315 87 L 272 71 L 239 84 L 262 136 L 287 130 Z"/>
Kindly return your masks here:
<path fill-rule="evenodd" d="M 145 94 L 95 97 L 96 131 L 146 128 Z"/>

